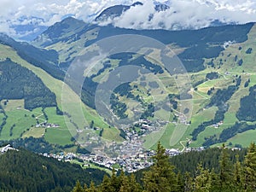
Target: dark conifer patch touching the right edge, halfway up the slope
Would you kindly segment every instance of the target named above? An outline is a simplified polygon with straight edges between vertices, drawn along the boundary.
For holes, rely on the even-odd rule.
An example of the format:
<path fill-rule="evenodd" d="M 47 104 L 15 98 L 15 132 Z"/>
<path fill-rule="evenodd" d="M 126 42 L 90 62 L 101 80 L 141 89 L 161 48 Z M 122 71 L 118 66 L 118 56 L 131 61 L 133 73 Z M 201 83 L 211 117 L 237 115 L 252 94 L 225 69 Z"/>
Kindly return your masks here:
<path fill-rule="evenodd" d="M 256 85 L 250 88 L 249 96 L 241 98 L 240 108 L 236 113 L 239 120 L 256 120 Z"/>

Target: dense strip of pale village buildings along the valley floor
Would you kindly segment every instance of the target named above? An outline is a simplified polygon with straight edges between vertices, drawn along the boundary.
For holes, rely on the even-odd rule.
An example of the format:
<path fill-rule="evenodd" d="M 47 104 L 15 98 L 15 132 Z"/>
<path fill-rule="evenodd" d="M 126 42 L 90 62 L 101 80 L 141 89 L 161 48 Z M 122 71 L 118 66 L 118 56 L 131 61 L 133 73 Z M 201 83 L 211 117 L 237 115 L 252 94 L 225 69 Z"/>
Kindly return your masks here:
<path fill-rule="evenodd" d="M 8 152 L 9 150 L 16 150 L 16 148 L 11 147 L 10 144 L 0 148 L 1 154 Z M 187 148 L 184 152 L 178 149 L 166 149 L 166 154 L 169 156 L 175 156 L 178 154 L 186 153 L 192 150 L 201 151 L 204 148 Z M 154 156 L 154 150 L 140 151 L 139 153 L 134 153 L 131 155 L 123 155 L 118 157 L 108 157 L 102 154 L 76 154 L 76 153 L 66 153 L 61 152 L 58 154 L 48 154 L 43 153 L 43 155 L 48 158 L 54 158 L 59 161 L 76 163 L 80 162 L 81 166 L 84 168 L 90 167 L 91 165 L 101 166 L 106 169 L 123 169 L 124 172 L 137 172 L 138 170 L 147 168 L 153 165 L 152 156 Z M 118 167 L 118 168 L 117 168 Z"/>

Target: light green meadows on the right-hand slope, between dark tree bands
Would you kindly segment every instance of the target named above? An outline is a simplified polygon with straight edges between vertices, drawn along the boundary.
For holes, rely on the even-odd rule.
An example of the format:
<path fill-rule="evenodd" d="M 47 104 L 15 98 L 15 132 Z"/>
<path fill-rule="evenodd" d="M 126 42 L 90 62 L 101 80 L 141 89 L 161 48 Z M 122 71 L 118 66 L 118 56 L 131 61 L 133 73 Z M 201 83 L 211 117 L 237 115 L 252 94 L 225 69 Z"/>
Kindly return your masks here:
<path fill-rule="evenodd" d="M 201 79 L 205 79 L 207 73 L 212 71 L 218 72 L 220 77 L 218 79 L 207 80 L 206 82 L 198 85 L 198 90 L 193 92 L 193 117 L 191 119 L 192 124 L 189 125 L 187 131 L 184 133 L 182 137 L 182 141 L 188 141 L 188 138 L 191 138 L 191 132 L 202 122 L 211 120 L 214 117 L 214 113 L 216 112 L 217 108 L 212 107 L 208 108 L 207 110 L 201 111 L 204 103 L 206 104 L 209 102 L 210 96 L 207 96 L 207 90 L 211 89 L 212 87 L 215 88 L 214 91 L 218 89 L 225 89 L 230 84 L 233 84 L 233 79 L 236 79 L 235 75 L 241 75 L 241 86 L 239 90 L 230 98 L 228 101 L 230 108 L 227 113 L 224 114 L 224 124 L 220 125 L 218 129 L 213 128 L 212 126 L 208 126 L 205 131 L 199 134 L 198 139 L 190 144 L 190 147 L 201 146 L 204 142 L 205 137 L 212 136 L 216 134 L 217 136 L 223 131 L 225 128 L 230 127 L 230 125 L 234 125 L 238 119 L 236 119 L 236 112 L 240 108 L 240 100 L 242 97 L 248 95 L 248 90 L 250 86 L 256 84 L 256 66 L 254 65 L 254 61 L 256 59 L 256 26 L 253 26 L 251 32 L 248 34 L 248 40 L 242 44 L 232 44 L 229 48 L 225 49 L 223 53 L 221 53 L 217 58 L 213 59 L 213 62 L 217 64 L 220 60 L 224 62 L 224 64 L 217 69 L 213 69 L 212 67 L 207 67 L 204 71 L 200 73 L 193 73 L 190 74 L 192 77 L 191 82 L 196 82 Z M 242 49 L 239 50 L 239 47 Z M 250 55 L 246 54 L 246 50 L 248 48 L 252 48 L 253 52 Z M 235 56 L 237 55 L 238 60 L 242 59 L 243 64 L 241 67 L 237 65 L 235 62 Z M 208 62 L 210 60 L 206 60 Z M 244 70 L 244 71 L 243 71 Z M 229 72 L 230 75 L 226 75 L 224 73 Z M 251 80 L 249 87 L 244 88 L 244 83 L 247 79 Z M 169 132 L 170 136 L 172 135 L 172 131 Z M 255 141 L 253 136 L 249 136 L 249 133 L 255 131 L 246 131 L 244 133 L 238 134 L 236 137 L 230 138 L 227 143 L 242 144 L 243 146 L 247 146 L 252 141 Z M 169 137 L 170 137 L 169 136 Z M 165 147 L 172 147 L 172 148 L 182 148 L 180 143 L 177 143 L 174 146 L 168 146 L 166 144 L 166 135 L 161 137 L 161 142 L 165 144 Z"/>

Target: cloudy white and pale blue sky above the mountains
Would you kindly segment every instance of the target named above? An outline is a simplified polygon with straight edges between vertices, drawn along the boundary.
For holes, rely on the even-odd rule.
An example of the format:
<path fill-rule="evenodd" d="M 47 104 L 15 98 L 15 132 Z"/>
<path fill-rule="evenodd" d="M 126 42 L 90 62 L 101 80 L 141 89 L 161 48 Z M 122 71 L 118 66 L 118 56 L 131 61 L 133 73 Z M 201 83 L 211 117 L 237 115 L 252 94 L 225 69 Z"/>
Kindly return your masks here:
<path fill-rule="evenodd" d="M 212 20 L 225 23 L 256 21 L 256 0 L 160 0 L 170 9 L 154 10 L 154 0 L 142 0 L 143 6 L 126 11 L 119 18 L 108 20 L 113 26 L 155 29 L 201 28 Z M 103 9 L 133 0 L 0 0 L 0 32 L 22 38 L 42 32 L 67 16 L 92 22 Z M 151 17 L 151 20 L 148 20 Z"/>

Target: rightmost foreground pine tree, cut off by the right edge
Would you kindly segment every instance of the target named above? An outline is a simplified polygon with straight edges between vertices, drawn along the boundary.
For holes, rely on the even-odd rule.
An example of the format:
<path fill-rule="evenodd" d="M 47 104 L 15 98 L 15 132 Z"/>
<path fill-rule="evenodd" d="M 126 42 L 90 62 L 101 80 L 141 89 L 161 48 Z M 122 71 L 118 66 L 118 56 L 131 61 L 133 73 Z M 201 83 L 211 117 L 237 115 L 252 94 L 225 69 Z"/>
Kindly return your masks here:
<path fill-rule="evenodd" d="M 256 146 L 251 143 L 245 157 L 245 191 L 256 190 Z"/>

